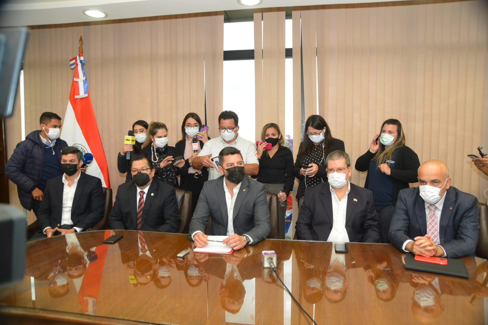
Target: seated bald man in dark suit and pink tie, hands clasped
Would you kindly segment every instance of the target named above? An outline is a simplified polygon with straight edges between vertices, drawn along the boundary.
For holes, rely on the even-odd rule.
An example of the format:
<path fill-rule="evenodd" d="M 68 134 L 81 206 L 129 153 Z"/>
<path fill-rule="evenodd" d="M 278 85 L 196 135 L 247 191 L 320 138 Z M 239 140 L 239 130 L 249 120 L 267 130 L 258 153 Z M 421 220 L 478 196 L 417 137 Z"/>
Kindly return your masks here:
<path fill-rule="evenodd" d="M 472 255 L 478 242 L 478 200 L 451 185 L 447 165 L 419 167 L 419 188 L 400 191 L 388 237 L 403 251 L 422 256 Z"/>

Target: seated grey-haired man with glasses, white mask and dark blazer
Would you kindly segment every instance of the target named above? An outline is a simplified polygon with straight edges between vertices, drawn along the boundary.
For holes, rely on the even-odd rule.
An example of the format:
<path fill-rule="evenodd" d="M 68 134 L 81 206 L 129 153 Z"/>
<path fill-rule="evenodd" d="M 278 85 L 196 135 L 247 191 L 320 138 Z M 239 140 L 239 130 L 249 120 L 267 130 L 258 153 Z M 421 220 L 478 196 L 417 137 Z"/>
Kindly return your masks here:
<path fill-rule="evenodd" d="M 305 190 L 295 225 L 298 239 L 377 243 L 380 231 L 373 192 L 349 182 L 349 155 L 333 151 L 325 164 L 328 181 Z"/>

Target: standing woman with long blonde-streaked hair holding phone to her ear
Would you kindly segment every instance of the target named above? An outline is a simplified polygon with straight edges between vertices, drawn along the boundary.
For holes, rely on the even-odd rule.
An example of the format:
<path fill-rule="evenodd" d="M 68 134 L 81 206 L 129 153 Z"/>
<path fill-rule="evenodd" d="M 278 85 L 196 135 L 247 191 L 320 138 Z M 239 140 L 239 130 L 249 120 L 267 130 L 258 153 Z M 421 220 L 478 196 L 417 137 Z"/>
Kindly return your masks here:
<path fill-rule="evenodd" d="M 415 183 L 420 167 L 417 153 L 405 145 L 402 123 L 395 118 L 381 125 L 369 150 L 356 160 L 356 170 L 366 172 L 365 188 L 373 192 L 378 213 L 395 205 L 398 192 Z"/>

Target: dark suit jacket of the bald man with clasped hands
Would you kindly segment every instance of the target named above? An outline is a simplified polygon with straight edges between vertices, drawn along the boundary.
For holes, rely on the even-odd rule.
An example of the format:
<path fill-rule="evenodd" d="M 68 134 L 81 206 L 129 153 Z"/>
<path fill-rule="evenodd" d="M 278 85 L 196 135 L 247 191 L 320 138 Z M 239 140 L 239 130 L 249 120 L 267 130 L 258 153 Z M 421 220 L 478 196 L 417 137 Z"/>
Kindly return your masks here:
<path fill-rule="evenodd" d="M 439 223 L 439 243 L 447 257 L 474 254 L 478 243 L 478 199 L 451 186 Z M 388 237 L 398 249 L 406 240 L 427 234 L 425 203 L 416 187 L 404 189 L 398 195 L 395 214 L 391 219 Z"/>

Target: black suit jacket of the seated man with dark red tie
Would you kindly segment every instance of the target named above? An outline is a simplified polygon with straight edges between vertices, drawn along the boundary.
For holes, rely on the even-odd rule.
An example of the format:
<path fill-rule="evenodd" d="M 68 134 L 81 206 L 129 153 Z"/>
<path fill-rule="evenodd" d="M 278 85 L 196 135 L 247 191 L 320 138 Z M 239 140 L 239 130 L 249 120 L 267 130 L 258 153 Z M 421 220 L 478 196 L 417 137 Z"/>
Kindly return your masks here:
<path fill-rule="evenodd" d="M 153 177 L 147 190 L 140 230 L 178 231 L 181 215 L 178 210 L 175 189 Z M 119 186 L 110 213 L 110 229 L 137 230 L 137 191 L 134 182 L 125 182 Z"/>

